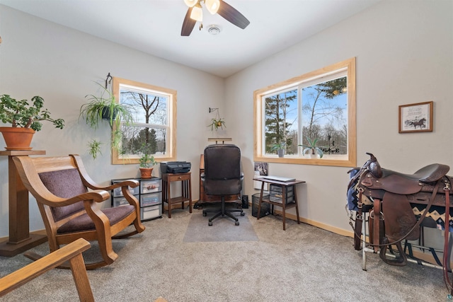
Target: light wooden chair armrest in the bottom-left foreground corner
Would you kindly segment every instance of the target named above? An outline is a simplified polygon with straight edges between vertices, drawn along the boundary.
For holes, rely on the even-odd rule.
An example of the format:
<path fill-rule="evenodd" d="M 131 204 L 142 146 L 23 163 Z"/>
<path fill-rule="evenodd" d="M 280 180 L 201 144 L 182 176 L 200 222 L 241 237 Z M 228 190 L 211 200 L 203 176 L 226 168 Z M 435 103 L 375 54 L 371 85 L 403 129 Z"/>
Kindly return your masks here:
<path fill-rule="evenodd" d="M 88 250 L 88 248 L 90 248 L 90 243 L 88 243 L 88 241 L 77 239 L 73 243 L 69 243 L 69 245 L 42 257 L 40 260 L 2 277 L 0 279 L 0 297 L 17 289 L 28 281 L 35 279 L 41 274 L 44 274 L 50 269 L 69 261 L 72 277 L 74 277 L 80 301 L 94 301 L 93 292 L 91 291 L 90 282 L 88 281 L 88 274 L 86 274 L 84 257 L 82 257 L 81 254 L 85 250 Z"/>

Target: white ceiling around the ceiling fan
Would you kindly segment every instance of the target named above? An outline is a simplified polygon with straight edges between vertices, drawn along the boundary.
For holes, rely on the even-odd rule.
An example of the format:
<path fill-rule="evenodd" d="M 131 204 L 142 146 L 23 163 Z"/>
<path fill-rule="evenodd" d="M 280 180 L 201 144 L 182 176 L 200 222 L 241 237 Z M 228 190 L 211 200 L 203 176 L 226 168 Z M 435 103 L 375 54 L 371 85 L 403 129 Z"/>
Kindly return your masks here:
<path fill-rule="evenodd" d="M 285 50 L 380 0 L 226 0 L 244 30 L 203 8 L 203 30 L 180 31 L 183 0 L 0 0 L 0 4 L 221 77 Z M 219 25 L 219 35 L 207 33 Z"/>

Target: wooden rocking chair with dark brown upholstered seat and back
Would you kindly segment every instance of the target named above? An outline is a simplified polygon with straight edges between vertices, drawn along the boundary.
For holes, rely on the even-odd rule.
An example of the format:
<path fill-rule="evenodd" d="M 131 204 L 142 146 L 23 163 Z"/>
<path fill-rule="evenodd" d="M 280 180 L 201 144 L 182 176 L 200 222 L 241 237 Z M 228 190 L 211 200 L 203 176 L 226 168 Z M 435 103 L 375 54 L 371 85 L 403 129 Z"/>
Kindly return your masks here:
<path fill-rule="evenodd" d="M 139 203 L 129 191 L 129 187 L 139 185 L 137 180 L 101 187 L 88 176 L 78 155 L 17 156 L 13 161 L 23 184 L 38 202 L 50 252 L 78 238 L 97 240 L 103 261 L 86 264 L 86 269 L 96 269 L 110 265 L 117 259 L 112 239 L 126 238 L 144 231 Z M 117 187 L 121 187 L 129 204 L 100 209 L 96 203 L 109 199 L 107 191 Z M 120 233 L 132 223 L 134 230 Z M 32 260 L 42 257 L 35 252 L 25 252 L 24 255 Z"/>

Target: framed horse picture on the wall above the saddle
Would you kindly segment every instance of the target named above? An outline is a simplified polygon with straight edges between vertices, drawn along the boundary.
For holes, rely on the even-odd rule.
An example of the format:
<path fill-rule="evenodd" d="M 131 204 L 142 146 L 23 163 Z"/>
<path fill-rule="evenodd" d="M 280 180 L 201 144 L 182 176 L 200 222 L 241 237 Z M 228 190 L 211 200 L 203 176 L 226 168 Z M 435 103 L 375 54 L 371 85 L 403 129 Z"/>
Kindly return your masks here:
<path fill-rule="evenodd" d="M 432 100 L 399 106 L 399 133 L 432 132 Z"/>

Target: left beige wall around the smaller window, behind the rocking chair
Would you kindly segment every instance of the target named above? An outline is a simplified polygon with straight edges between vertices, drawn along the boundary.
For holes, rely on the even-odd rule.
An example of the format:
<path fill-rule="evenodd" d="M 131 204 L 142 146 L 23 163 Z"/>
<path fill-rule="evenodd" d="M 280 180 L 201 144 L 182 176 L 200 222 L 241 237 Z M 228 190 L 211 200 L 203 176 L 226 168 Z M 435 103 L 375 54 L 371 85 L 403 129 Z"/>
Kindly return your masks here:
<path fill-rule="evenodd" d="M 93 137 L 105 141 L 110 128 L 93 132 L 78 122 L 85 95 L 96 93 L 93 81 L 107 74 L 178 91 L 177 160 L 193 166 L 193 196 L 198 196 L 197 167 L 211 131 L 208 108 L 223 106 L 224 80 L 187 66 L 149 56 L 130 48 L 43 21 L 0 5 L 0 94 L 16 98 L 40 95 L 53 117 L 66 121 L 63 130 L 45 124 L 32 146 L 49 156 L 79 153 L 93 180 L 137 177 L 138 165 L 111 165 L 108 147 L 93 161 L 86 144 Z M 0 148 L 4 148 L 3 138 Z M 8 235 L 7 158 L 0 156 L 0 237 Z M 155 173 L 155 172 L 154 172 Z M 30 228 L 44 228 L 35 200 L 30 199 Z M 110 206 L 110 203 L 104 204 Z"/>

